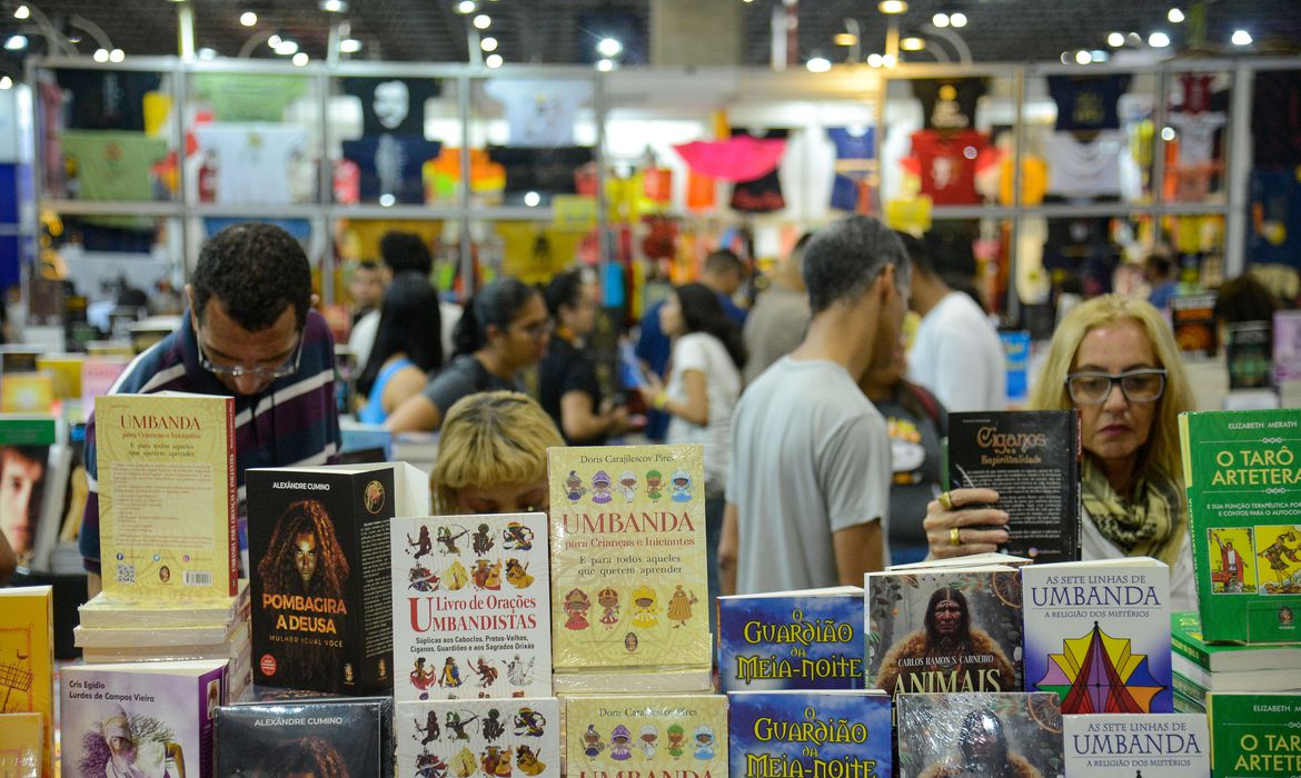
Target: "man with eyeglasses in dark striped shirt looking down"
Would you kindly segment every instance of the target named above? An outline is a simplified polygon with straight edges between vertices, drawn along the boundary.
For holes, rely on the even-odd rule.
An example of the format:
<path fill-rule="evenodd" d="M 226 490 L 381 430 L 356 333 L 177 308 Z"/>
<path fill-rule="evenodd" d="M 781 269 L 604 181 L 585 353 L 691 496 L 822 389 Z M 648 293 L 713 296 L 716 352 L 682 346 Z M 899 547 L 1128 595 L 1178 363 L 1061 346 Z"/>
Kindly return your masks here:
<path fill-rule="evenodd" d="M 137 356 L 113 394 L 191 392 L 235 398 L 239 545 L 243 480 L 250 467 L 328 464 L 338 459 L 334 342 L 314 303 L 302 246 L 269 224 L 239 224 L 199 252 L 181 327 Z M 81 552 L 91 596 L 99 592 L 99 493 L 95 419 L 86 428 L 90 497 Z M 247 565 L 246 565 L 247 567 Z"/>

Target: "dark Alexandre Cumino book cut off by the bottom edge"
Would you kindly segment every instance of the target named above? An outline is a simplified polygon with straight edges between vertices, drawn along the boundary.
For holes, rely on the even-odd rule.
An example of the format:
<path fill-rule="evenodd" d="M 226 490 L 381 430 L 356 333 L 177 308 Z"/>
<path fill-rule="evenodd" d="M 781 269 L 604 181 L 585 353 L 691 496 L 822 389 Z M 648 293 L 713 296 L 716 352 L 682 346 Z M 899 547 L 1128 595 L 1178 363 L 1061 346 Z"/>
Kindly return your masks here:
<path fill-rule="evenodd" d="M 392 775 L 392 716 L 376 697 L 217 708 L 215 775 Z"/>

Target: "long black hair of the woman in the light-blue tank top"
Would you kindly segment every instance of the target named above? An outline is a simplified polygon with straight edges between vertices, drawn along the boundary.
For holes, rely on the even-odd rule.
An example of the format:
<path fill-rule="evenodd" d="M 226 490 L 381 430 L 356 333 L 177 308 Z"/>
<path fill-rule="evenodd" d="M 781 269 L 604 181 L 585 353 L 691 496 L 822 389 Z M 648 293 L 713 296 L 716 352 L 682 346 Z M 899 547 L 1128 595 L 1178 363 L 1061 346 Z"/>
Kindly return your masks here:
<path fill-rule="evenodd" d="M 394 354 L 406 354 L 424 372 L 442 367 L 442 315 L 438 293 L 419 273 L 402 273 L 393 280 L 380 303 L 380 324 L 375 330 L 371 355 L 356 379 L 356 389 L 369 394 L 380 368 Z"/>

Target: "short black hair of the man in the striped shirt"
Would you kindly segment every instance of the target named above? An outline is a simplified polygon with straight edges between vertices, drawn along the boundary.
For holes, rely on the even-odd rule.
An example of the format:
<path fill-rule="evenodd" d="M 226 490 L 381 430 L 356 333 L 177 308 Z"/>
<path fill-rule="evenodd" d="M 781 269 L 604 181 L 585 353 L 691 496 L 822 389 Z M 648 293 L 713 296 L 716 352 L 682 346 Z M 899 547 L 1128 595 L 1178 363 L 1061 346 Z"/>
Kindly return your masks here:
<path fill-rule="evenodd" d="M 302 330 L 312 302 L 312 268 L 293 235 L 273 224 L 245 222 L 208 238 L 194 268 L 194 314 L 203 321 L 216 297 L 248 332 L 269 328 L 293 306 Z"/>

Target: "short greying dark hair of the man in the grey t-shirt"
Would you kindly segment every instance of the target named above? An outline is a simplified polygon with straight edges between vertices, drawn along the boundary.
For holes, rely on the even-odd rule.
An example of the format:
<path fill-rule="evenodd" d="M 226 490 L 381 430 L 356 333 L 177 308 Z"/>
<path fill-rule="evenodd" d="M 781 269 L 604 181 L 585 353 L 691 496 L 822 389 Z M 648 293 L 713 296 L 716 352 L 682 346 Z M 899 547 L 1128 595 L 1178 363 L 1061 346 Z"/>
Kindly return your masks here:
<path fill-rule="evenodd" d="M 857 299 L 889 264 L 895 265 L 895 286 L 907 289 L 908 254 L 876 219 L 853 215 L 822 228 L 804 247 L 809 308 L 821 314 L 840 301 Z"/>

